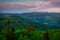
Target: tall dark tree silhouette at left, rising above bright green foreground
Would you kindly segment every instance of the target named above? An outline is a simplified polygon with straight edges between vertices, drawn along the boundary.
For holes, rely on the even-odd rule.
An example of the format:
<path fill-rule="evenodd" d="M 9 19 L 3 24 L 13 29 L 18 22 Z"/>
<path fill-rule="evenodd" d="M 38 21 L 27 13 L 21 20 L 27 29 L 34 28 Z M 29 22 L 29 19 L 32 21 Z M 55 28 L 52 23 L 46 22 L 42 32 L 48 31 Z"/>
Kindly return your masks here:
<path fill-rule="evenodd" d="M 16 40 L 15 38 L 15 29 L 10 25 L 10 20 L 6 22 L 6 38 L 7 40 Z"/>

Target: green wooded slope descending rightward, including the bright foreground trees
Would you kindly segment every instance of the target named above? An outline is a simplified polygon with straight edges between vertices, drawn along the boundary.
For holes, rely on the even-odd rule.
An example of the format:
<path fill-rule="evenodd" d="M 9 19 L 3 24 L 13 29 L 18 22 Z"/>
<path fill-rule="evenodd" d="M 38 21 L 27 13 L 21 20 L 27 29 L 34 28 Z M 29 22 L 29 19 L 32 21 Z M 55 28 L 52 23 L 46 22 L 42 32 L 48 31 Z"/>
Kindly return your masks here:
<path fill-rule="evenodd" d="M 0 40 L 60 40 L 60 25 L 51 26 L 19 16 L 4 16 L 0 17 Z"/>

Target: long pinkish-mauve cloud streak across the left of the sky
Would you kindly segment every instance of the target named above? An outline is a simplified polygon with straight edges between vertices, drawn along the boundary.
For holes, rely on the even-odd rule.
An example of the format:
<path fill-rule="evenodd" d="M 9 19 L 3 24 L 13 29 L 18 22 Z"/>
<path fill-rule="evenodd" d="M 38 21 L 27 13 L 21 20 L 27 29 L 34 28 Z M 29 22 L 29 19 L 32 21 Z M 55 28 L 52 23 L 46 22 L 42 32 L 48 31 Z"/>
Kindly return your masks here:
<path fill-rule="evenodd" d="M 28 9 L 34 8 L 34 5 L 25 5 L 25 4 L 0 4 L 0 8 L 21 8 L 21 9 Z"/>

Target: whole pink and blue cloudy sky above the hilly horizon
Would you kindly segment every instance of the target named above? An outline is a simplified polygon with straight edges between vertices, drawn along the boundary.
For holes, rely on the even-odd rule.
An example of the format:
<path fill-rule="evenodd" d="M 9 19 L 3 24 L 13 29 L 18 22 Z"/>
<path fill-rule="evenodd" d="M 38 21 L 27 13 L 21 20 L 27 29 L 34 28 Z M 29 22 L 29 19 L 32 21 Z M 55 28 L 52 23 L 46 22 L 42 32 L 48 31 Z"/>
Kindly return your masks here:
<path fill-rule="evenodd" d="M 0 0 L 0 13 L 59 12 L 60 0 Z"/>

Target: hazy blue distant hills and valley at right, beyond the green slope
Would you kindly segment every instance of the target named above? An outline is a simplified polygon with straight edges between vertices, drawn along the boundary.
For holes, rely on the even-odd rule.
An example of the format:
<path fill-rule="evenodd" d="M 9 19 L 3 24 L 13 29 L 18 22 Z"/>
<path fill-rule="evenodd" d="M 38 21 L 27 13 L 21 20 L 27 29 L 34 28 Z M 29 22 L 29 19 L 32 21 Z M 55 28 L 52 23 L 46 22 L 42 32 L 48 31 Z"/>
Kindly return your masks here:
<path fill-rule="evenodd" d="M 32 22 L 46 22 L 48 24 L 57 24 L 57 22 L 60 20 L 60 13 L 31 12 L 22 13 L 19 16 Z"/>

